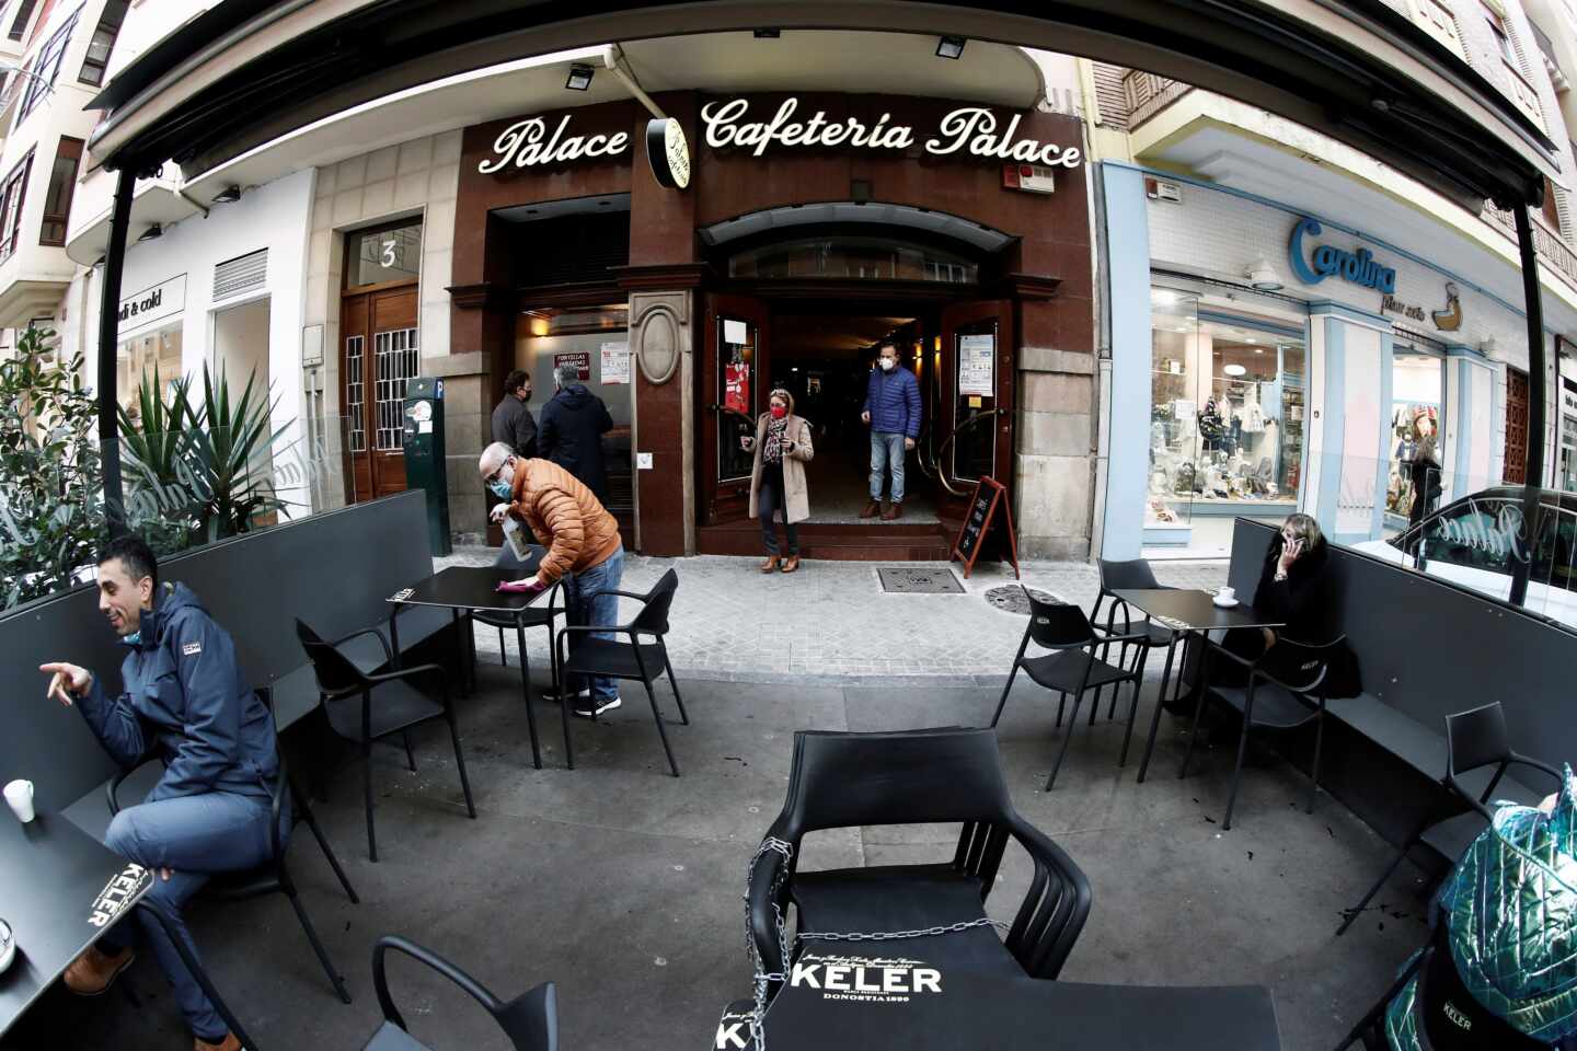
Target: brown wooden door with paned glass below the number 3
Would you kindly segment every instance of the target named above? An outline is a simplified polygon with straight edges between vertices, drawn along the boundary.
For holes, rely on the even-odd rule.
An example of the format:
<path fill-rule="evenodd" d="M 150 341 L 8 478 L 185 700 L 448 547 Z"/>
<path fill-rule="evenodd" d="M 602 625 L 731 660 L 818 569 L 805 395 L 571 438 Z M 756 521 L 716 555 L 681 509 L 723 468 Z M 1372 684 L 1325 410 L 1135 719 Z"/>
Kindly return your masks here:
<path fill-rule="evenodd" d="M 339 318 L 347 498 L 361 503 L 405 488 L 405 383 L 421 364 L 416 287 L 347 295 Z"/>

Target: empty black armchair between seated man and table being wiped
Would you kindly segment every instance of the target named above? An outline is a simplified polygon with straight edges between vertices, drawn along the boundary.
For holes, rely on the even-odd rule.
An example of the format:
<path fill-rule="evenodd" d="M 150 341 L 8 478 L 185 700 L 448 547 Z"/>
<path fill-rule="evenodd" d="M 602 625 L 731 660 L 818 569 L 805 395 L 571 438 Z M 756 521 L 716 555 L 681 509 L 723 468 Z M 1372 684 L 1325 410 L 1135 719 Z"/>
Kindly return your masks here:
<path fill-rule="evenodd" d="M 383 635 L 371 629 L 353 632 L 345 638 L 355 638 L 356 635 L 377 635 L 378 641 L 383 641 Z M 336 649 L 339 643 L 345 641 L 344 638 L 337 640 L 337 643 L 328 643 L 300 618 L 296 619 L 296 638 L 301 640 L 301 648 L 306 649 L 308 660 L 312 662 L 312 674 L 317 676 L 319 700 L 323 706 L 323 714 L 328 717 L 328 725 L 341 737 L 361 745 L 361 783 L 367 804 L 367 859 L 378 860 L 377 837 L 372 830 L 372 742 L 393 734 L 404 734 L 419 723 L 434 719 L 448 720 L 449 739 L 454 741 L 454 763 L 460 767 L 460 789 L 465 793 L 465 810 L 475 819 L 476 804 L 472 802 L 472 783 L 465 777 L 460 726 L 454 719 L 454 704 L 449 700 L 449 679 L 443 667 L 427 663 L 367 674 Z M 388 643 L 383 644 L 388 649 Z M 390 663 L 394 663 L 393 654 L 390 654 Z M 438 690 L 443 695 L 442 704 L 429 700 L 427 695 L 410 685 L 410 679 L 423 676 L 432 676 L 438 681 Z M 372 703 L 374 690 L 378 692 L 377 704 Z M 361 698 L 360 703 L 355 700 L 358 695 Z M 412 761 L 408 737 L 405 737 L 405 758 L 410 761 L 410 769 L 415 771 L 416 764 Z"/>

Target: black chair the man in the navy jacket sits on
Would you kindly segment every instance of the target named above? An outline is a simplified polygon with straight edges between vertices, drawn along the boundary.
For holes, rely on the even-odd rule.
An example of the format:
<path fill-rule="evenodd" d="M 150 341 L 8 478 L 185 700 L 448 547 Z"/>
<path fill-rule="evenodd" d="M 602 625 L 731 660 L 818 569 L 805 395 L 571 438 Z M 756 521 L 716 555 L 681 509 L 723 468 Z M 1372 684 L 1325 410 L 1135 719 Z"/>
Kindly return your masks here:
<path fill-rule="evenodd" d="M 268 692 L 259 690 L 257 695 L 260 700 L 263 700 L 267 706 Z M 290 845 L 284 841 L 279 835 L 279 816 L 284 813 L 284 807 L 287 804 L 293 807 L 292 813 L 300 815 L 300 819 L 304 821 L 306 826 L 312 830 L 312 837 L 317 840 L 317 845 L 323 851 L 323 857 L 328 859 L 330 867 L 339 878 L 339 886 L 345 889 L 345 895 L 352 900 L 352 903 L 356 904 L 361 903 L 361 898 L 356 897 L 355 889 L 350 886 L 350 879 L 345 876 L 345 870 L 339 867 L 339 859 L 334 857 L 334 851 L 328 846 L 328 838 L 323 837 L 323 829 L 319 827 L 317 818 L 312 815 L 312 808 L 308 805 L 306 796 L 303 796 L 295 789 L 295 783 L 290 780 L 290 771 L 285 766 L 285 755 L 282 750 L 278 748 L 278 741 L 274 752 L 279 756 L 279 777 L 274 782 L 274 791 L 270 802 L 270 813 L 273 819 L 271 838 L 270 838 L 271 857 L 257 868 L 248 868 L 230 873 L 214 873 L 203 886 L 203 889 L 197 892 L 194 900 L 244 901 L 248 898 L 260 898 L 265 893 L 285 895 L 285 898 L 290 900 L 290 908 L 295 909 L 296 919 L 301 920 L 301 930 L 306 933 L 306 939 L 312 944 L 312 952 L 317 953 L 319 963 L 323 964 L 323 972 L 328 975 L 330 983 L 334 986 L 334 991 L 339 993 L 339 999 L 349 1004 L 350 993 L 345 990 L 345 980 L 341 977 L 339 971 L 334 969 L 334 963 L 328 958 L 328 950 L 319 939 L 317 928 L 312 927 L 312 920 L 308 919 L 306 908 L 301 904 L 300 890 L 296 889 L 295 879 L 290 878 L 290 870 L 285 867 L 285 851 L 289 849 Z M 121 771 L 104 788 L 104 796 L 110 815 L 118 815 L 121 810 L 118 799 L 120 786 L 126 782 L 126 778 L 136 774 L 150 759 L 145 759 L 144 763 L 139 763 L 126 771 Z M 216 988 L 213 988 L 213 982 L 208 979 L 207 969 L 203 969 L 202 963 L 192 955 L 191 949 L 186 945 L 186 941 L 175 933 L 175 919 L 164 909 L 164 906 L 158 904 L 151 898 L 144 898 L 137 908 L 144 909 L 148 915 L 153 915 L 158 920 L 158 923 L 164 928 L 166 936 L 175 945 L 177 953 L 180 953 L 181 961 L 186 964 L 186 971 L 189 971 L 191 975 L 197 980 L 197 985 L 208 996 L 208 1001 L 214 1005 L 214 1010 L 219 1013 L 221 1018 L 224 1018 L 226 1024 L 230 1027 L 230 1032 L 233 1032 L 244 1046 L 255 1048 L 257 1045 L 246 1037 L 246 1031 L 241 1027 L 241 1023 L 230 1012 L 229 1005 L 224 1002 L 224 997 L 219 996 L 219 991 Z"/>

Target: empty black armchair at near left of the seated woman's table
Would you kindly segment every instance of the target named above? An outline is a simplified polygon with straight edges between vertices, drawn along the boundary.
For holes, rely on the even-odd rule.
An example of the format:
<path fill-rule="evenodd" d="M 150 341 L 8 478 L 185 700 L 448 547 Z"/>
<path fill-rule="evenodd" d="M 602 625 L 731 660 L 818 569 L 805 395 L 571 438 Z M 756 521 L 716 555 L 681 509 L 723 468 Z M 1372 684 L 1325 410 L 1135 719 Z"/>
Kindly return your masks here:
<path fill-rule="evenodd" d="M 992 715 L 990 725 L 995 726 L 1001 719 L 1001 709 L 1008 706 L 1008 693 L 1012 690 L 1012 681 L 1019 676 L 1019 668 L 1023 668 L 1025 674 L 1039 685 L 1057 692 L 1058 726 L 1063 725 L 1063 706 L 1068 704 L 1068 695 L 1074 695 L 1074 714 L 1068 720 L 1063 747 L 1057 753 L 1057 763 L 1052 766 L 1050 777 L 1046 778 L 1046 791 L 1052 791 L 1052 785 L 1057 783 L 1057 772 L 1063 769 L 1063 758 L 1068 755 L 1068 742 L 1072 741 L 1074 726 L 1079 723 L 1079 706 L 1083 703 L 1085 692 L 1102 685 L 1110 685 L 1117 690 L 1123 682 L 1131 682 L 1134 685 L 1134 700 L 1128 707 L 1128 731 L 1123 734 L 1123 755 L 1118 758 L 1118 766 L 1126 766 L 1128 742 L 1134 736 L 1134 714 L 1139 709 L 1139 684 L 1145 678 L 1145 654 L 1150 652 L 1150 635 L 1102 633 L 1090 624 L 1090 618 L 1076 605 L 1041 602 L 1030 594 L 1028 588 L 1023 589 L 1023 597 L 1030 600 L 1030 622 L 1023 629 L 1023 641 L 1019 643 L 1019 654 L 1012 659 L 1012 671 L 1008 673 L 1008 685 L 1001 689 L 1001 700 L 997 701 L 997 714 Z M 1025 657 L 1023 654 L 1031 641 L 1050 652 Z M 1113 644 L 1123 646 L 1121 652 L 1124 659 L 1128 657 L 1129 644 L 1134 646 L 1132 667 L 1110 665 L 1096 655 L 1098 649 Z"/>

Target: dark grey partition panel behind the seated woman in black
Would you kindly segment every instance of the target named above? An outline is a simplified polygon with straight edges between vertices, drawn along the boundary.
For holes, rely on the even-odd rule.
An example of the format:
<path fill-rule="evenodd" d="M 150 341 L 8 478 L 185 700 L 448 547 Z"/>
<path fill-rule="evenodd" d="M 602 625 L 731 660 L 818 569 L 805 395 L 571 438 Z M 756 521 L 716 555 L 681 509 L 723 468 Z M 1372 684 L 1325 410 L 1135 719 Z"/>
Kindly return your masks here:
<path fill-rule="evenodd" d="M 1238 594 L 1254 594 L 1274 536 L 1276 526 L 1238 518 L 1230 569 Z M 1514 748 L 1556 769 L 1577 764 L 1568 684 L 1577 633 L 1342 547 L 1331 547 L 1326 574 L 1331 633 L 1347 635 L 1367 696 L 1440 737 L 1435 777 L 1445 774 L 1446 715 L 1490 701 L 1504 706 Z M 1306 766 L 1304 750 L 1295 756 Z M 1422 818 L 1427 782 L 1340 719 L 1328 720 L 1322 786 L 1391 841 Z"/>

